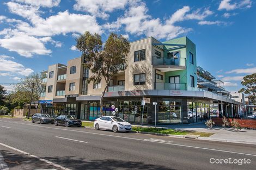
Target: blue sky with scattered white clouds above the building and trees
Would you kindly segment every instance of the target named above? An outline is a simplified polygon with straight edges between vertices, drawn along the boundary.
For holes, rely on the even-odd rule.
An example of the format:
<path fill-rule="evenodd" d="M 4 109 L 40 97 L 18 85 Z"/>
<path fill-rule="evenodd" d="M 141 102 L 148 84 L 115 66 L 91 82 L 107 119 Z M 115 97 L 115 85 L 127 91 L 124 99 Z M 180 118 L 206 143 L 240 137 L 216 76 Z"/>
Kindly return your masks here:
<path fill-rule="evenodd" d="M 197 65 L 237 91 L 244 75 L 256 73 L 255 5 L 251 0 L 1 1 L 0 84 L 80 56 L 75 39 L 88 30 L 103 40 L 110 32 L 130 41 L 188 36 L 197 47 Z"/>

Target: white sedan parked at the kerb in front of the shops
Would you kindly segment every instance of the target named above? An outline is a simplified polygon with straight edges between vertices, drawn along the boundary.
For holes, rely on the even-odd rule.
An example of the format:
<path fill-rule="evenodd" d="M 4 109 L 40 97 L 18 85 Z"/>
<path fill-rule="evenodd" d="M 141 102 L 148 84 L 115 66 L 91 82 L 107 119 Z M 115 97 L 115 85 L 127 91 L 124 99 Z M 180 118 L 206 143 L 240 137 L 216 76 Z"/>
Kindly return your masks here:
<path fill-rule="evenodd" d="M 96 130 L 108 129 L 113 130 L 113 132 L 132 130 L 132 126 L 130 123 L 125 122 L 120 117 L 115 116 L 102 116 L 96 118 L 93 126 Z"/>

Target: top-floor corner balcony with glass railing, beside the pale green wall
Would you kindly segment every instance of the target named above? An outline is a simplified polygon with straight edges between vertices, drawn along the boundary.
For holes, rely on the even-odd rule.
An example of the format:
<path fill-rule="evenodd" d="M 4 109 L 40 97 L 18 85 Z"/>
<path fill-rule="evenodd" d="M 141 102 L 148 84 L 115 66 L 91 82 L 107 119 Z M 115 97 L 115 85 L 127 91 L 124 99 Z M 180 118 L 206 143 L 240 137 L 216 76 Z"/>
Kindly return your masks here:
<path fill-rule="evenodd" d="M 153 67 L 162 72 L 186 69 L 186 58 L 152 56 Z"/>

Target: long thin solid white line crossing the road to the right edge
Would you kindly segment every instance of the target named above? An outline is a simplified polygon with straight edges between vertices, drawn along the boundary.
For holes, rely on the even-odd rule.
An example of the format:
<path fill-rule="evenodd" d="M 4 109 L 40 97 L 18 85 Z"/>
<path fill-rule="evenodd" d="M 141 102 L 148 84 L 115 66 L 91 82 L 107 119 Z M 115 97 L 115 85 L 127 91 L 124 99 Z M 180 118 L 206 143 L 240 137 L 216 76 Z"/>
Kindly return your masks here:
<path fill-rule="evenodd" d="M 1 121 L 1 120 L 0 120 L 0 121 Z M 71 129 L 52 128 L 52 127 L 45 127 L 45 126 L 34 125 L 34 124 L 26 124 L 26 123 L 19 123 L 19 124 L 31 125 L 31 126 L 40 127 L 40 128 L 58 129 L 58 130 L 66 130 L 66 131 L 76 131 L 76 132 L 85 133 L 85 134 L 94 134 L 94 135 L 111 136 L 111 137 L 118 137 L 118 138 L 127 138 L 127 139 L 137 140 L 137 141 L 145 141 L 144 139 L 140 139 L 140 138 L 132 138 L 132 137 L 124 137 L 124 136 L 115 136 L 115 135 L 99 134 L 99 133 L 92 133 L 92 132 L 88 132 L 88 131 L 78 131 L 78 130 L 71 130 Z M 187 148 L 196 148 L 196 149 L 204 149 L 204 150 L 214 150 L 214 151 L 217 151 L 217 152 L 225 152 L 225 153 L 233 153 L 233 154 L 240 154 L 240 155 L 256 156 L 256 155 L 253 155 L 253 154 L 240 153 L 240 152 L 232 152 L 232 151 L 228 151 L 228 150 L 219 150 L 219 149 L 203 148 L 203 147 L 194 147 L 194 146 L 189 146 L 189 145 L 185 145 L 185 144 L 164 143 L 164 142 L 157 142 L 157 141 L 147 141 L 147 142 L 163 143 L 163 144 L 170 144 L 170 145 L 173 145 L 173 146 L 180 146 L 180 147 L 187 147 Z"/>

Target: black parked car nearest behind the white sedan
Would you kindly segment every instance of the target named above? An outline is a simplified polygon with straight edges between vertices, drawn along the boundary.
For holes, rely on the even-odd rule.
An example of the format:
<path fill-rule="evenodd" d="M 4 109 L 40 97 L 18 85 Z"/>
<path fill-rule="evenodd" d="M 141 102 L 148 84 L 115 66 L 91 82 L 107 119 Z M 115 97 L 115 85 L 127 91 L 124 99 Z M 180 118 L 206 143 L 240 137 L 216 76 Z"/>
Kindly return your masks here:
<path fill-rule="evenodd" d="M 74 116 L 71 115 L 59 115 L 54 119 L 55 125 L 65 125 L 65 127 L 81 127 L 82 121 L 76 119 Z"/>

